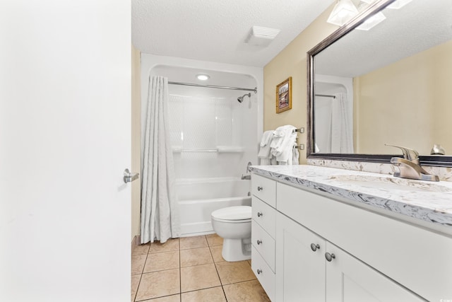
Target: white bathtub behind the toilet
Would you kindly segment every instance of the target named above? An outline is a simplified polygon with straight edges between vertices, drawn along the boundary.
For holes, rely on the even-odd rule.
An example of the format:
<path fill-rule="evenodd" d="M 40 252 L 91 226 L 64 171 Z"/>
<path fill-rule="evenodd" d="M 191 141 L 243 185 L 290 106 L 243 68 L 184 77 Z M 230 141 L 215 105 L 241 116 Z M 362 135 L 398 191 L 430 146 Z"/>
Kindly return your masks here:
<path fill-rule="evenodd" d="M 224 207 L 251 206 L 251 182 L 240 178 L 176 180 L 181 236 L 213 233 L 210 214 Z"/>

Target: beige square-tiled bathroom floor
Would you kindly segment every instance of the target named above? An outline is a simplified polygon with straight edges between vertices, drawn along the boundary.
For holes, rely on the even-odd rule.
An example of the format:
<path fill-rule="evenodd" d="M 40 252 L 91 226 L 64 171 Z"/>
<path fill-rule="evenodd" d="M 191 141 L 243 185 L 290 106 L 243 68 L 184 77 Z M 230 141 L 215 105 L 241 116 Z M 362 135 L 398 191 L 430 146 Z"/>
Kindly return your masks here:
<path fill-rule="evenodd" d="M 226 262 L 216 234 L 135 245 L 131 301 L 270 301 L 251 271 L 251 260 Z"/>

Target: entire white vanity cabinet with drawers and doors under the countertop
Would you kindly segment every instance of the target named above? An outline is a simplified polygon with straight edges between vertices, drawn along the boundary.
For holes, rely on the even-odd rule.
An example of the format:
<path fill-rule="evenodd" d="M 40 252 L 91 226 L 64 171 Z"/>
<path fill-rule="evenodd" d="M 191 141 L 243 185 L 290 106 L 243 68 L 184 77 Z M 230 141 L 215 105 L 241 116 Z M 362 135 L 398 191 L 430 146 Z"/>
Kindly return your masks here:
<path fill-rule="evenodd" d="M 449 236 L 325 192 L 255 179 L 252 268 L 272 301 L 452 301 Z M 265 197 L 263 183 L 272 192 Z"/>

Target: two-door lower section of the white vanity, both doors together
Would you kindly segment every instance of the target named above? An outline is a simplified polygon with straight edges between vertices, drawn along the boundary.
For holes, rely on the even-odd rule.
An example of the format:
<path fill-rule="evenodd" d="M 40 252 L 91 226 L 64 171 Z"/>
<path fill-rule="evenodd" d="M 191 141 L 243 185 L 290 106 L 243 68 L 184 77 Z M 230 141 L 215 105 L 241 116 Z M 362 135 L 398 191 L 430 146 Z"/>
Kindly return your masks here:
<path fill-rule="evenodd" d="M 287 216 L 276 225 L 275 301 L 424 301 Z"/>

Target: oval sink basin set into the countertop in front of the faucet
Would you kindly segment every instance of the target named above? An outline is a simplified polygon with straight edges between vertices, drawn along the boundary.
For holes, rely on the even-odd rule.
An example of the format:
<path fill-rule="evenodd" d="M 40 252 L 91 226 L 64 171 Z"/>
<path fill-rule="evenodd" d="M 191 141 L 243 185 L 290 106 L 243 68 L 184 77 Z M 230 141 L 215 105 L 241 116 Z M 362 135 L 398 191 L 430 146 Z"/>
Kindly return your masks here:
<path fill-rule="evenodd" d="M 369 176 L 369 175 L 331 175 L 329 180 L 342 182 L 343 184 L 359 185 L 372 189 L 405 190 L 416 192 L 452 192 L 452 187 L 439 185 L 437 182 L 424 182 L 394 178 L 393 176 Z"/>

